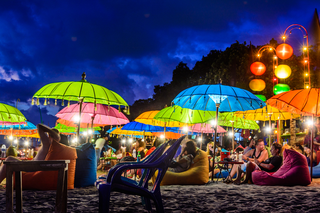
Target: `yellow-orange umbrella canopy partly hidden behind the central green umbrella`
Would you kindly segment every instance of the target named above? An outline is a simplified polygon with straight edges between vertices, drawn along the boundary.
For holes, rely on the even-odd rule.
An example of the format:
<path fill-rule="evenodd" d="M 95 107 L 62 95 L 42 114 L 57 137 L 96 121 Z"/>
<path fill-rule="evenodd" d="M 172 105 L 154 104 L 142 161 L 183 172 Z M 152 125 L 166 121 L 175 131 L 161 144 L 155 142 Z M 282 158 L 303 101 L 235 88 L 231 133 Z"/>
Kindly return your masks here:
<path fill-rule="evenodd" d="M 155 110 L 155 111 L 144 112 L 141 115 L 139 115 L 136 119 L 134 119 L 134 121 L 137 121 L 137 122 L 143 123 L 143 124 L 153 125 L 153 126 L 164 126 L 163 121 L 153 119 L 158 112 L 160 112 L 160 111 Z M 189 125 L 191 125 L 191 124 L 189 124 Z M 186 126 L 186 124 L 181 123 L 181 122 L 177 122 L 177 121 L 171 121 L 170 123 L 166 123 L 166 126 L 168 126 L 168 127 L 177 127 L 177 126 L 181 127 L 181 126 Z"/>

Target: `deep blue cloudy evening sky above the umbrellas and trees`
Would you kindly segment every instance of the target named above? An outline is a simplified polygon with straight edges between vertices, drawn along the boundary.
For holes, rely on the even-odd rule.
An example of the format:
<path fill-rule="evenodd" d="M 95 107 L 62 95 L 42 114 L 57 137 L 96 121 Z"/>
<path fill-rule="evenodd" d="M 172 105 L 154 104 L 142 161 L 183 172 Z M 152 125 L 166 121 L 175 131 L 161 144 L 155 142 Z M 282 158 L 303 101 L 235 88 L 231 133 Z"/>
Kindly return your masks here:
<path fill-rule="evenodd" d="M 89 82 L 132 104 L 170 82 L 180 61 L 192 68 L 211 49 L 236 40 L 261 45 L 280 41 L 291 24 L 309 27 L 320 3 L 305 2 L 1 1 L 1 102 L 15 105 L 20 98 L 18 109 L 39 123 L 38 109 L 29 109 L 32 95 L 86 72 Z M 45 124 L 59 108 L 43 109 Z"/>

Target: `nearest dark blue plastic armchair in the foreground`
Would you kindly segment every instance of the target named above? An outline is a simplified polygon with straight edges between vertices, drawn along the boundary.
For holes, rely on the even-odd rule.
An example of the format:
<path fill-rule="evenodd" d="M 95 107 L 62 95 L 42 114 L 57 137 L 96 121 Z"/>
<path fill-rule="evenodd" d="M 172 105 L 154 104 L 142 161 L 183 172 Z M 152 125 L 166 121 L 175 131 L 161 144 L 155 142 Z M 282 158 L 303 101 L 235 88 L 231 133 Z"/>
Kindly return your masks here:
<path fill-rule="evenodd" d="M 155 203 L 156 211 L 160 213 L 164 213 L 164 207 L 163 207 L 161 191 L 160 191 L 160 183 L 164 177 L 165 172 L 169 167 L 169 164 L 173 156 L 176 154 L 181 141 L 185 137 L 186 136 L 184 135 L 180 139 L 178 139 L 176 142 L 174 142 L 173 145 L 153 163 L 144 162 L 143 164 L 127 164 L 127 165 L 120 166 L 112 175 L 112 179 L 110 182 L 105 181 L 105 182 L 99 183 L 97 186 L 97 189 L 99 190 L 99 213 L 109 212 L 110 193 L 112 191 L 144 197 L 146 200 L 147 210 L 149 212 L 152 212 L 151 201 L 150 201 L 150 199 L 152 199 Z M 147 170 L 146 178 L 143 180 L 142 186 L 138 186 L 136 184 L 123 181 L 121 179 L 122 173 L 128 169 Z M 158 175 L 156 177 L 156 180 L 152 189 L 149 190 L 148 181 L 156 170 L 158 170 Z"/>

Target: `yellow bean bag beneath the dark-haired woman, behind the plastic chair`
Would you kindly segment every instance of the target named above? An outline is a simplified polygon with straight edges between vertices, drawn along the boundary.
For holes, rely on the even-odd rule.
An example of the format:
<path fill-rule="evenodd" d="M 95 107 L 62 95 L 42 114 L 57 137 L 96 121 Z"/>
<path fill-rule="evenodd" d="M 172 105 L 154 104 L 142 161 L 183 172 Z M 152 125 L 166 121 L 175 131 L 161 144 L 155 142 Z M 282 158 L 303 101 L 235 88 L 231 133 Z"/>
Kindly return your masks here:
<path fill-rule="evenodd" d="M 209 180 L 209 162 L 207 153 L 198 149 L 193 159 L 193 164 L 187 171 L 174 173 L 166 171 L 160 186 L 166 185 L 201 185 Z M 151 181 L 154 183 L 158 171 L 155 172 Z"/>

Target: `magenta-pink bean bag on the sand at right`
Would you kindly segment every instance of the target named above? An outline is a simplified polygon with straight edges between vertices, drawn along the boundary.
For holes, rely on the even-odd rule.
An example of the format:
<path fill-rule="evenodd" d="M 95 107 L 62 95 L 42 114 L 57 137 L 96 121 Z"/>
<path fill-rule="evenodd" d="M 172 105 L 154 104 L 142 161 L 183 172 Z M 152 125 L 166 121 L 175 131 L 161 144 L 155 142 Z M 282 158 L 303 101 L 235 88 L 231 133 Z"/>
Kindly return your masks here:
<path fill-rule="evenodd" d="M 285 149 L 283 159 L 283 165 L 273 174 L 253 171 L 252 182 L 259 186 L 307 186 L 311 183 L 309 167 L 304 155 Z"/>

